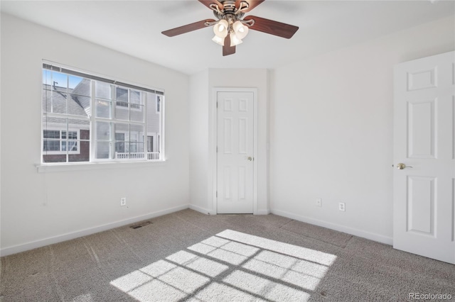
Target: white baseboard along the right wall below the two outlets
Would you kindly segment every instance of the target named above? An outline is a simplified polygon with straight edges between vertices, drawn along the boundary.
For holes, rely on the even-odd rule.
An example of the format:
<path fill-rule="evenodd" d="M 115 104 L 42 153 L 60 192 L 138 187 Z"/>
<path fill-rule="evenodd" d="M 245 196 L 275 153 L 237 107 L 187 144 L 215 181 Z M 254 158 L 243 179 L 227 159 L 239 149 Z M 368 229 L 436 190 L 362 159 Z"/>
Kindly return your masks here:
<path fill-rule="evenodd" d="M 348 233 L 350 235 L 355 235 L 358 237 L 363 237 L 369 240 L 385 243 L 386 245 L 392 245 L 393 244 L 393 238 L 392 237 L 387 237 L 384 235 L 379 235 L 375 233 L 370 233 L 370 232 L 365 232 L 364 230 L 359 230 L 357 228 L 350 228 L 344 225 L 337 225 L 336 223 L 328 223 L 323 220 L 318 220 L 314 218 L 309 218 L 305 216 L 300 216 L 296 215 L 294 213 L 289 213 L 285 211 L 279 211 L 279 210 L 273 210 L 272 209 L 272 214 L 278 215 L 278 216 L 283 216 L 287 218 L 291 218 L 294 220 L 299 220 L 304 223 L 311 223 L 312 225 L 319 225 L 323 228 L 330 228 L 331 230 L 338 230 L 339 232 L 343 233 Z"/>

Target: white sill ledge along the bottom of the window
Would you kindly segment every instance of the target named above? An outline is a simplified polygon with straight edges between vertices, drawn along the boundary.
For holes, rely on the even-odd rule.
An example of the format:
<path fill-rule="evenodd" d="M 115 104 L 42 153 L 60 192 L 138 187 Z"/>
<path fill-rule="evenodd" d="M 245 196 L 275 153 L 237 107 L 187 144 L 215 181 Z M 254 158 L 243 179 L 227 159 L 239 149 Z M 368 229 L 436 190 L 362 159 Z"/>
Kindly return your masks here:
<path fill-rule="evenodd" d="M 99 169 L 125 169 L 125 168 L 144 168 L 152 166 L 162 166 L 166 160 L 156 161 L 137 161 L 137 162 L 84 162 L 84 163 L 63 163 L 63 164 L 36 164 L 38 173 L 45 172 L 66 172 L 84 171 Z"/>

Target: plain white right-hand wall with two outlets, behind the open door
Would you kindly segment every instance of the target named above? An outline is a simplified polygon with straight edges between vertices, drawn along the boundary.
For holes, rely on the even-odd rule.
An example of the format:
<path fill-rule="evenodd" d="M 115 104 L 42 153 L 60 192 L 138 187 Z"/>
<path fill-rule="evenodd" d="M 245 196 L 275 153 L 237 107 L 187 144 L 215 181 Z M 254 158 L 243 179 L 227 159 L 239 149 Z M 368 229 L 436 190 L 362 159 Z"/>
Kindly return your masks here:
<path fill-rule="evenodd" d="M 277 68 L 272 213 L 392 243 L 392 68 L 454 50 L 454 37 L 444 18 Z"/>

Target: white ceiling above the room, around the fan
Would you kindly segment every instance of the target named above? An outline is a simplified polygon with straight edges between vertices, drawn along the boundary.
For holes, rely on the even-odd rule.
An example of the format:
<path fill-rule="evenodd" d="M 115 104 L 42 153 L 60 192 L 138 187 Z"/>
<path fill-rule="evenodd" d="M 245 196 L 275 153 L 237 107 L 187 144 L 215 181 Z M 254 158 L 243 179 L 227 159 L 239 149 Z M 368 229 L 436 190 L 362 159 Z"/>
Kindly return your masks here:
<path fill-rule="evenodd" d="M 299 26 L 290 40 L 255 30 L 223 57 L 211 28 L 161 31 L 213 18 L 197 0 L 1 1 L 1 11 L 186 74 L 207 68 L 274 68 L 454 16 L 455 1 L 266 0 L 247 15 Z"/>

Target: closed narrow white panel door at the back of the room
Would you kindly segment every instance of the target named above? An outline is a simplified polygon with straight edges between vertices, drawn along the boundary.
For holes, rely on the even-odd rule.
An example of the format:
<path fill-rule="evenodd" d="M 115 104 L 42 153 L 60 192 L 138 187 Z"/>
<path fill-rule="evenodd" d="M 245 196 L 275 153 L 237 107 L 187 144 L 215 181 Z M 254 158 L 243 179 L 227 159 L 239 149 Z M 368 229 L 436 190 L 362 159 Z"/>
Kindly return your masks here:
<path fill-rule="evenodd" d="M 253 92 L 217 94 L 217 213 L 253 213 Z"/>

